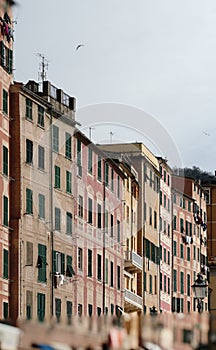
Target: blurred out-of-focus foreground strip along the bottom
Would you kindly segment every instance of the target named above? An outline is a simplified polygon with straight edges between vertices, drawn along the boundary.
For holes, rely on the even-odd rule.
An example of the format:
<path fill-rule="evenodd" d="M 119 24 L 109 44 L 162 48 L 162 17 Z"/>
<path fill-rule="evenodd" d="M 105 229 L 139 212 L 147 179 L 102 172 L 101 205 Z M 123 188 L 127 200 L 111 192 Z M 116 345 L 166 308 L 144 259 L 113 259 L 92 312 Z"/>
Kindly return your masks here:
<path fill-rule="evenodd" d="M 208 313 L 72 318 L 67 322 L 0 324 L 1 350 L 216 349 L 216 317 Z"/>

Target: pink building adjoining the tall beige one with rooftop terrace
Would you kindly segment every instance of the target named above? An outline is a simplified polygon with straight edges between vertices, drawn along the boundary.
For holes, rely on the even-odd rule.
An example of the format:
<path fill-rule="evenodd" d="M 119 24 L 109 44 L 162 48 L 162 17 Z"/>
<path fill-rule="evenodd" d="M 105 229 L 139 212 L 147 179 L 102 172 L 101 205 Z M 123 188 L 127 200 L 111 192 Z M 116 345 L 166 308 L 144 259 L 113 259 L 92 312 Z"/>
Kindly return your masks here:
<path fill-rule="evenodd" d="M 80 131 L 74 155 L 74 314 L 114 314 L 124 304 L 124 174 Z"/>

